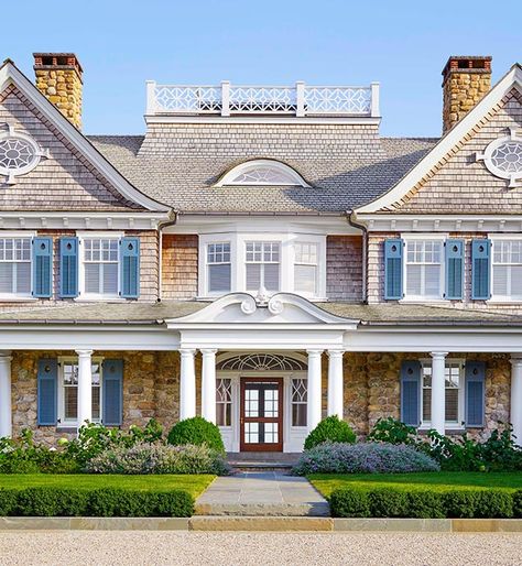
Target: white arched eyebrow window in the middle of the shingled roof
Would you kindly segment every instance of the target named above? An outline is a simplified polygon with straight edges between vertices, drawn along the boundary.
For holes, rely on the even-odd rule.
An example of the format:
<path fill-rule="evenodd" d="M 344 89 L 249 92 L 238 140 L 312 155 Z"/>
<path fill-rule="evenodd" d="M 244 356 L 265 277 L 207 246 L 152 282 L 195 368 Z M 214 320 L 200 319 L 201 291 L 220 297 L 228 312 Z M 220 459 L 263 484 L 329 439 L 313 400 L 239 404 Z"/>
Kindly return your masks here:
<path fill-rule="evenodd" d="M 305 179 L 292 167 L 272 160 L 255 160 L 233 167 L 219 181 L 217 186 L 302 186 Z"/>

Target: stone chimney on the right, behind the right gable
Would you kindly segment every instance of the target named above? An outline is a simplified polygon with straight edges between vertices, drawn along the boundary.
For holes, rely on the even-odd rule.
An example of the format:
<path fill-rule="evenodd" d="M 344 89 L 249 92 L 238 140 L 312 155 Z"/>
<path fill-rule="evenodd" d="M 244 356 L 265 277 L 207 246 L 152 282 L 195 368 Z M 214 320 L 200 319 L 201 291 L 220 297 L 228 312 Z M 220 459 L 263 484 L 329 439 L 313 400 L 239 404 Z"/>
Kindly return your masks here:
<path fill-rule="evenodd" d="M 452 56 L 443 69 L 443 133 L 491 88 L 491 57 Z"/>

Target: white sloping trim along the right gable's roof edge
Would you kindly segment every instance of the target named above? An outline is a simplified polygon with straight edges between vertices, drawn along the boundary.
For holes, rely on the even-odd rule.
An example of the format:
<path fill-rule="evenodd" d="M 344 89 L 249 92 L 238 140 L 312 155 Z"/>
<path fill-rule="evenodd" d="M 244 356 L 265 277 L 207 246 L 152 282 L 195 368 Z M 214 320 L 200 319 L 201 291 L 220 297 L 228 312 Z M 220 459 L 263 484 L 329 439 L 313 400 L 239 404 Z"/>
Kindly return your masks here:
<path fill-rule="evenodd" d="M 376 213 L 388 208 L 403 198 L 461 139 L 499 104 L 505 94 L 516 87 L 522 90 L 522 67 L 515 64 L 499 83 L 470 110 L 441 141 L 388 193 L 356 209 L 357 214 Z"/>

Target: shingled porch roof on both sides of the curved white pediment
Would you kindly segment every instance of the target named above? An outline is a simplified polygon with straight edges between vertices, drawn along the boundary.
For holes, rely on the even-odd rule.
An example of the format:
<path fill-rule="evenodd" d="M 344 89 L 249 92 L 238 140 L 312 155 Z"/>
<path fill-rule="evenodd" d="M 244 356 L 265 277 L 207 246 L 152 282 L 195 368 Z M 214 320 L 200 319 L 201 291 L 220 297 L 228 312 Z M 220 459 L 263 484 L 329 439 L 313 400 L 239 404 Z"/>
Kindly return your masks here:
<path fill-rule="evenodd" d="M 24 306 L 0 312 L 1 324 L 44 325 L 163 325 L 208 306 L 199 301 L 156 303 L 88 303 L 63 306 Z M 362 325 L 522 326 L 522 314 L 513 311 L 452 308 L 438 305 L 316 303 L 327 313 L 360 320 Z"/>

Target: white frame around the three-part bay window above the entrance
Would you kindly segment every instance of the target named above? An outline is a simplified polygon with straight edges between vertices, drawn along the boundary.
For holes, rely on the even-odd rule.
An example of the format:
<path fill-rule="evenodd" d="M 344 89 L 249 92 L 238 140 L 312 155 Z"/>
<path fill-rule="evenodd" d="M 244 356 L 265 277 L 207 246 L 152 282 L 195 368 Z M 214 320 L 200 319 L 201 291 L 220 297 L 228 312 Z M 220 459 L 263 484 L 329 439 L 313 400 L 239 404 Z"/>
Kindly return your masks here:
<path fill-rule="evenodd" d="M 230 293 L 247 292 L 246 253 L 248 241 L 280 242 L 280 291 L 296 293 L 295 242 L 317 244 L 317 294 L 297 293 L 311 301 L 326 301 L 326 236 L 302 232 L 216 232 L 199 236 L 198 244 L 198 298 L 208 300 L 222 293 L 208 292 L 207 246 L 208 243 L 230 242 Z"/>

